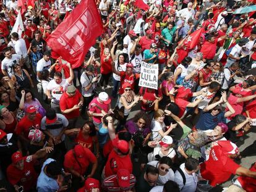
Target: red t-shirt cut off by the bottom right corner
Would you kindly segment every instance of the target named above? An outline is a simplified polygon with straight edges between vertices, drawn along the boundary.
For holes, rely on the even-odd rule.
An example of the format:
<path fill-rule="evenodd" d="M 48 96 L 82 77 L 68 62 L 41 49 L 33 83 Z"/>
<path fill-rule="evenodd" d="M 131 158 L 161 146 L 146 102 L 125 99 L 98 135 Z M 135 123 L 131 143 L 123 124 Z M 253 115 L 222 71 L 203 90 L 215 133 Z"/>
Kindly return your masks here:
<path fill-rule="evenodd" d="M 252 165 L 250 168 L 251 171 L 256 172 L 256 164 Z M 252 177 L 245 177 L 245 176 L 240 176 L 237 178 L 239 183 L 242 185 L 242 188 L 246 192 L 255 192 L 256 191 L 256 178 Z"/>

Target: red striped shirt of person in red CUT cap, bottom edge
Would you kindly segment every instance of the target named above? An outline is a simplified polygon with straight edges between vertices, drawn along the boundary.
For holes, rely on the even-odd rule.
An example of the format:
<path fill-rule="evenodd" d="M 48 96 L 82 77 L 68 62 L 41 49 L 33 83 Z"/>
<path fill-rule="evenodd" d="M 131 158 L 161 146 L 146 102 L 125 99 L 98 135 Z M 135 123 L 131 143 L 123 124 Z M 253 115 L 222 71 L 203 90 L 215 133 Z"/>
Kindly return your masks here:
<path fill-rule="evenodd" d="M 118 185 L 117 179 L 118 179 L 117 175 L 111 175 L 105 178 L 104 182 L 102 183 L 102 188 L 105 191 L 121 192 L 121 191 L 131 190 L 132 188 L 134 188 L 134 185 L 136 183 L 136 178 L 132 174 L 130 174 L 130 186 L 127 188 L 121 188 Z"/>

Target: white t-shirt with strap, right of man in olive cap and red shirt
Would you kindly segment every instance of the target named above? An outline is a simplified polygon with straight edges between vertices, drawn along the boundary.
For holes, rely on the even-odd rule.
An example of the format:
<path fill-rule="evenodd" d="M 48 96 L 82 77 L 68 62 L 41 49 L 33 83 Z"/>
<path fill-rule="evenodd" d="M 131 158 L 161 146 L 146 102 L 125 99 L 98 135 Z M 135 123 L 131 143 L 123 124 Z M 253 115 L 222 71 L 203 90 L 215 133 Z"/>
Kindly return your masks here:
<path fill-rule="evenodd" d="M 89 90 L 85 91 L 85 88 L 92 82 L 92 79 L 94 77 L 95 77 L 94 75 L 87 75 L 86 72 L 82 73 L 80 77 L 80 82 L 82 86 L 82 95 L 84 97 L 90 97 L 94 94 L 93 90 L 95 90 L 97 82 L 93 83 Z"/>

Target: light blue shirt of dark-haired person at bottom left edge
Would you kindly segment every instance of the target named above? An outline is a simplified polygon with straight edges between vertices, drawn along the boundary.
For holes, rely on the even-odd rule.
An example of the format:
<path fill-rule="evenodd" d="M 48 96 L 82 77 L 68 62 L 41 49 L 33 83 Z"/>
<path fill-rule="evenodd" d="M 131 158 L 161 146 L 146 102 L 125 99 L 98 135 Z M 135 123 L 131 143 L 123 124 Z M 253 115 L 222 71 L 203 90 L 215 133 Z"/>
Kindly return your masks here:
<path fill-rule="evenodd" d="M 56 192 L 59 190 L 59 185 L 53 178 L 48 177 L 45 172 L 45 166 L 50 162 L 55 161 L 54 159 L 48 158 L 43 163 L 43 167 L 41 169 L 41 173 L 37 179 L 36 190 L 38 192 Z"/>

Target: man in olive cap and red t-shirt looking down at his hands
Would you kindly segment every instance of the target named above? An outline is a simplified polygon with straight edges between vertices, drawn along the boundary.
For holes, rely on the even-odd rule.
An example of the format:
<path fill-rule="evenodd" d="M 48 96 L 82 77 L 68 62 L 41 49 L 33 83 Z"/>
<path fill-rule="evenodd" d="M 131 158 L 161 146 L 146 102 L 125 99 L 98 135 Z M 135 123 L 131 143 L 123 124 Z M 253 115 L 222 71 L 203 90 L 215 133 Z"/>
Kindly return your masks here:
<path fill-rule="evenodd" d="M 59 100 L 62 114 L 69 120 L 69 127 L 75 128 L 75 123 L 80 115 L 79 109 L 83 105 L 83 96 L 74 85 L 67 86 L 67 90 Z"/>

